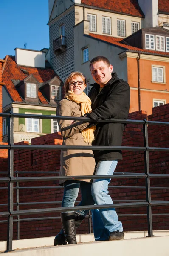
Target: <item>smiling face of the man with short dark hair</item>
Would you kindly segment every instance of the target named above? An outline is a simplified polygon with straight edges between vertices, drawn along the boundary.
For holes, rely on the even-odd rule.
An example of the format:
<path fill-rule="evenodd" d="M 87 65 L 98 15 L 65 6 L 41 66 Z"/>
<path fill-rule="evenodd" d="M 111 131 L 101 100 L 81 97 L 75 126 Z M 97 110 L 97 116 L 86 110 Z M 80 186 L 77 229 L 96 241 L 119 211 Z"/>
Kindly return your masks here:
<path fill-rule="evenodd" d="M 111 79 L 113 66 L 107 66 L 104 61 L 98 61 L 91 65 L 90 71 L 94 81 L 104 87 L 105 84 Z"/>

